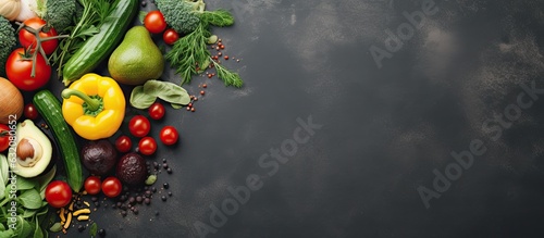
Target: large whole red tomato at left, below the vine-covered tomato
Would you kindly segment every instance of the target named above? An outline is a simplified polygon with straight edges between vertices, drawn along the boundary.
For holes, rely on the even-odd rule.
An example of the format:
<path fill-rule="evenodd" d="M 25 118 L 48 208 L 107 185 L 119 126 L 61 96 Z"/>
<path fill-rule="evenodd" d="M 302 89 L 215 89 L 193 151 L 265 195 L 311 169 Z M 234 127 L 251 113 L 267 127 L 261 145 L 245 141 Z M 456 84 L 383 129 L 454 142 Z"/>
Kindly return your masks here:
<path fill-rule="evenodd" d="M 47 65 L 46 60 L 38 53 L 36 58 L 36 72 L 30 76 L 33 61 L 24 59 L 27 55 L 25 49 L 18 48 L 11 52 L 5 62 L 5 73 L 8 79 L 21 90 L 34 91 L 44 87 L 51 77 L 51 66 Z"/>

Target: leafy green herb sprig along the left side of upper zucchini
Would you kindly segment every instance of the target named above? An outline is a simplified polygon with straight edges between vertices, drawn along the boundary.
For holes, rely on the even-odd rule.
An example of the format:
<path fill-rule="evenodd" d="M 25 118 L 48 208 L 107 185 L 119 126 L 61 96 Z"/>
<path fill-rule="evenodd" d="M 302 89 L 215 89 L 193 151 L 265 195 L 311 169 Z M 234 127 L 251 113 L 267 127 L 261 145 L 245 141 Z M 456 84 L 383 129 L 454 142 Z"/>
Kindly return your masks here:
<path fill-rule="evenodd" d="M 57 75 L 62 76 L 64 63 L 79 49 L 83 42 L 99 32 L 100 25 L 106 21 L 106 17 L 113 10 L 116 0 L 78 0 L 79 7 L 83 9 L 81 14 L 76 14 L 74 26 L 66 28 L 70 32 L 67 38 L 59 42 L 59 47 L 51 54 L 49 60 L 57 65 Z"/>

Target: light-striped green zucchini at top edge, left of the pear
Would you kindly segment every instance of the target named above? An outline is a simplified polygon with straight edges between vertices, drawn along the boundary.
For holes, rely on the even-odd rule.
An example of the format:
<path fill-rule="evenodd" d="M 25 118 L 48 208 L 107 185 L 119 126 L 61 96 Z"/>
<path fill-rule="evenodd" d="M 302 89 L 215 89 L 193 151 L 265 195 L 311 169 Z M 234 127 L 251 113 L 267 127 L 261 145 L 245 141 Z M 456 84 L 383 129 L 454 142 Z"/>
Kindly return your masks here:
<path fill-rule="evenodd" d="M 116 2 L 100 26 L 100 32 L 87 39 L 64 64 L 62 82 L 65 86 L 86 73 L 92 72 L 123 39 L 138 11 L 139 1 L 119 0 Z"/>

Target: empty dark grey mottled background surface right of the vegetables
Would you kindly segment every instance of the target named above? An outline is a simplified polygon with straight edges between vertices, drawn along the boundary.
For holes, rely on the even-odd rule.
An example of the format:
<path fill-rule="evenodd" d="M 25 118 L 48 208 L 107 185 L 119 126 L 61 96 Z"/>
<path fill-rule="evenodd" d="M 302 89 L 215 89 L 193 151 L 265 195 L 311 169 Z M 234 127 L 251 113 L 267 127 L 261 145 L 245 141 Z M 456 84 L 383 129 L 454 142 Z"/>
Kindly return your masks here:
<path fill-rule="evenodd" d="M 422 1 L 207 2 L 235 14 L 214 33 L 242 59 L 226 65 L 246 85 L 197 77 L 186 87 L 209 85 L 197 112 L 169 110 L 157 123 L 183 138 L 154 158 L 174 168 L 159 181 L 174 196 L 138 216 L 94 213 L 109 237 L 198 237 L 195 222 L 210 224 L 210 205 L 250 174 L 262 188 L 208 237 L 542 237 L 544 101 L 496 141 L 483 123 L 516 102 L 520 84 L 544 88 L 544 2 L 436 0 L 438 12 L 382 68 L 369 48 L 383 49 L 384 30 Z M 269 176 L 261 154 L 310 115 L 323 127 Z M 425 209 L 417 188 L 432 189 L 433 170 L 444 173 L 473 139 L 486 152 Z"/>

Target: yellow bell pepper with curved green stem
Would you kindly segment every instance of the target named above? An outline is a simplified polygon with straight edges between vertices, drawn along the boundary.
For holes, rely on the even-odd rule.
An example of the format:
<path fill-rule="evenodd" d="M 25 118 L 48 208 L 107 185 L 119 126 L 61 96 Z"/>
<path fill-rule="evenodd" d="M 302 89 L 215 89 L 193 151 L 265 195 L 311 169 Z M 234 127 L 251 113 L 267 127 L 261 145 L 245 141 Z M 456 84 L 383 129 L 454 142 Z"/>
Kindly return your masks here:
<path fill-rule="evenodd" d="M 111 137 L 123 123 L 125 96 L 110 77 L 86 74 L 61 95 L 64 120 L 85 139 Z"/>

